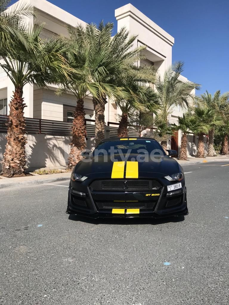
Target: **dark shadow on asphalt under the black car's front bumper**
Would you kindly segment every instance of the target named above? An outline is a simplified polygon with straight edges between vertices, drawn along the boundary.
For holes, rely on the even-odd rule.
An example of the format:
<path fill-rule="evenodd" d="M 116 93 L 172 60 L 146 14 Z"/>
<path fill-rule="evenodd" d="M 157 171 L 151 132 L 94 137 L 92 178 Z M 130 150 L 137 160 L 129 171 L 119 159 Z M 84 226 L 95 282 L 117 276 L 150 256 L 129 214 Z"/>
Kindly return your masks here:
<path fill-rule="evenodd" d="M 184 216 L 177 217 L 166 217 L 162 219 L 154 219 L 154 218 L 98 218 L 91 219 L 87 217 L 82 217 L 78 215 L 69 215 L 69 220 L 73 221 L 82 221 L 89 224 L 121 224 L 121 225 L 132 225 L 132 224 L 166 224 L 169 222 L 181 222 L 184 221 Z"/>

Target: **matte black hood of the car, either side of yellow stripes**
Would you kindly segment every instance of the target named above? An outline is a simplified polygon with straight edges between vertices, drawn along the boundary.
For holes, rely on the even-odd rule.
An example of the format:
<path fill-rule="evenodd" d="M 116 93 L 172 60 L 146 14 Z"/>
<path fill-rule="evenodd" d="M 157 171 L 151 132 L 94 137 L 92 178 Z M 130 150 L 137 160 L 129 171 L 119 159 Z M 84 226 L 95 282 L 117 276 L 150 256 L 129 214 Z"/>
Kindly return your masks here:
<path fill-rule="evenodd" d="M 142 157 L 141 157 L 142 158 Z M 115 159 L 115 160 L 114 160 Z M 176 160 L 168 156 L 156 156 L 154 160 L 144 161 L 144 157 L 140 160 L 139 155 L 129 155 L 125 157 L 125 161 L 138 162 L 138 177 L 151 177 L 151 174 L 156 176 L 166 176 L 177 173 L 179 166 Z M 87 176 L 89 178 L 107 177 L 111 178 L 114 162 L 124 161 L 123 156 L 92 156 L 88 159 L 80 161 L 75 167 L 75 173 Z"/>

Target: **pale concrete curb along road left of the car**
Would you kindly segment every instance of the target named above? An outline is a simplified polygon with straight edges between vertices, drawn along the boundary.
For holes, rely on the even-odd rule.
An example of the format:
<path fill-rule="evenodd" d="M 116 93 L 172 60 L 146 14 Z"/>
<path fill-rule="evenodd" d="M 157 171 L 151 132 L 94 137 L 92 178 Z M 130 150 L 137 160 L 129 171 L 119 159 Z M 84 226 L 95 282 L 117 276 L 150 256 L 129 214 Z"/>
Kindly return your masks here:
<path fill-rule="evenodd" d="M 10 178 L 12 179 L 12 178 Z M 37 184 L 43 184 L 43 183 L 51 183 L 56 181 L 64 181 L 64 180 L 70 180 L 69 177 L 54 177 L 54 178 L 46 178 L 46 179 L 38 179 L 38 180 L 28 180 L 28 181 L 12 181 L 9 183 L 0 183 L 0 189 L 2 188 L 18 188 L 20 186 L 30 186 L 30 185 L 37 185 Z M 8 181 L 8 179 L 7 179 Z M 5 179 L 4 179 L 5 182 Z"/>

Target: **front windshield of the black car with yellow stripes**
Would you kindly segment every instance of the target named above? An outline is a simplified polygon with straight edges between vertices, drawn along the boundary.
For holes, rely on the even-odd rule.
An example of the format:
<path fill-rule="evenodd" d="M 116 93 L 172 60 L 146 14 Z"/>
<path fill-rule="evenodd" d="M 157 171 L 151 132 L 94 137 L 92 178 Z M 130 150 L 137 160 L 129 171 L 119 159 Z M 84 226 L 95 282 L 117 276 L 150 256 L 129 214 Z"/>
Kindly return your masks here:
<path fill-rule="evenodd" d="M 160 154 L 166 155 L 161 145 L 155 140 L 146 139 L 127 139 L 127 140 L 114 140 L 104 141 L 96 146 L 93 155 L 95 154 Z"/>

